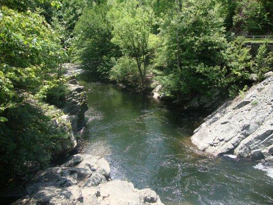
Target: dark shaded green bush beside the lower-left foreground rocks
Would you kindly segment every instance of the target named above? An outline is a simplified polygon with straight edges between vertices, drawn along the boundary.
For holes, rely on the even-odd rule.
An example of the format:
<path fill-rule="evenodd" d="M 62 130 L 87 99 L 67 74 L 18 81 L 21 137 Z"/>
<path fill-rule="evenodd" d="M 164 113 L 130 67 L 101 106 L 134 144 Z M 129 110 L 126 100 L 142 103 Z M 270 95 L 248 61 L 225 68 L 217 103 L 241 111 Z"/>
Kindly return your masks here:
<path fill-rule="evenodd" d="M 13 186 L 18 175 L 27 174 L 26 161 L 36 161 L 43 169 L 52 154 L 70 141 L 68 130 L 56 127 L 52 122 L 53 119 L 61 121 L 60 116 L 64 113 L 32 98 L 3 112 L 7 121 L 0 123 L 1 188 Z"/>

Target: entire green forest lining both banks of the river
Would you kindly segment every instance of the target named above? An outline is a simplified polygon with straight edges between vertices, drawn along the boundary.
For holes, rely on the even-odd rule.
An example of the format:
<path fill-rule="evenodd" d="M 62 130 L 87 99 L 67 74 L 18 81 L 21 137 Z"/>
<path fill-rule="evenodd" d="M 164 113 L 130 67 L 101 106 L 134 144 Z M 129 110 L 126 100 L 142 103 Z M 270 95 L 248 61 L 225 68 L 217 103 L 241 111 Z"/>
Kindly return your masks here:
<path fill-rule="evenodd" d="M 25 162 L 49 165 L 65 131 L 50 106 L 67 94 L 64 63 L 139 92 L 162 85 L 166 97 L 235 97 L 272 70 L 270 39 L 258 54 L 247 35 L 271 35 L 270 0 L 1 0 L 0 171 L 2 188 Z M 250 39 L 251 41 L 251 39 Z M 35 101 L 35 106 L 32 105 Z M 18 174 L 20 173 L 20 174 Z"/>

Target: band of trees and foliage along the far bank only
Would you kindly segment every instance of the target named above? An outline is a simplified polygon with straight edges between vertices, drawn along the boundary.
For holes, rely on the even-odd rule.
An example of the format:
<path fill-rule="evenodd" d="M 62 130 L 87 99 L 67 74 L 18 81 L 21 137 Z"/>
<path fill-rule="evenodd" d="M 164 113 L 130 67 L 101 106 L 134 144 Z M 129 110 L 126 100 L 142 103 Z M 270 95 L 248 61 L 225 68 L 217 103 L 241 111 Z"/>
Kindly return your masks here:
<path fill-rule="evenodd" d="M 270 33 L 270 6 L 267 1 L 248 0 L 93 4 L 77 23 L 75 56 L 93 73 L 134 87 L 148 86 L 147 73 L 151 79 L 152 72 L 171 97 L 215 88 L 236 95 L 258 71 L 251 69 L 254 59 L 244 40 L 233 32 Z M 135 77 L 132 59 L 138 68 Z"/>

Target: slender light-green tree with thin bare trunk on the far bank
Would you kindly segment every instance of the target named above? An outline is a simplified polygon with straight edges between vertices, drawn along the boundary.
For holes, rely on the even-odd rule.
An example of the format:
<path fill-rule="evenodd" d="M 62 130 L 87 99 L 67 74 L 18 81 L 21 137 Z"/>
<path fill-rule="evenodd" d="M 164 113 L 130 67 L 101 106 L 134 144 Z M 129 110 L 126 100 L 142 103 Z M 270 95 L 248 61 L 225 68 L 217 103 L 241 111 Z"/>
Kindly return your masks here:
<path fill-rule="evenodd" d="M 124 54 L 136 60 L 141 84 L 144 87 L 153 11 L 138 1 L 130 0 L 113 5 L 110 18 L 113 24 L 112 42 L 118 45 Z"/>

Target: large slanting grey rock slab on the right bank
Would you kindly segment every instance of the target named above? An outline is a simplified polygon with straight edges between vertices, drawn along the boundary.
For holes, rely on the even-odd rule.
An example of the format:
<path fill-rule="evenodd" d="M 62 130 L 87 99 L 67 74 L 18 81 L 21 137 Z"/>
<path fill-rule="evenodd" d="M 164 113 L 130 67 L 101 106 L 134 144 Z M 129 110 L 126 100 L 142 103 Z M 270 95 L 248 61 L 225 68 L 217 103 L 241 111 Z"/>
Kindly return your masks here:
<path fill-rule="evenodd" d="M 194 131 L 193 144 L 213 155 L 273 161 L 273 76 L 232 101 L 226 101 Z"/>

